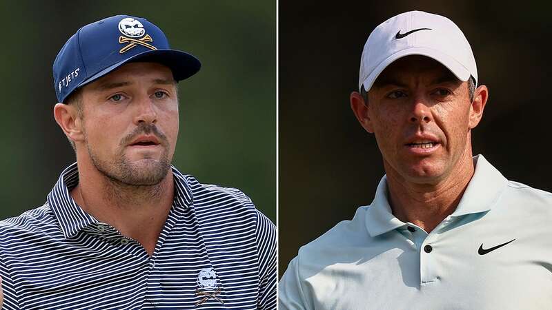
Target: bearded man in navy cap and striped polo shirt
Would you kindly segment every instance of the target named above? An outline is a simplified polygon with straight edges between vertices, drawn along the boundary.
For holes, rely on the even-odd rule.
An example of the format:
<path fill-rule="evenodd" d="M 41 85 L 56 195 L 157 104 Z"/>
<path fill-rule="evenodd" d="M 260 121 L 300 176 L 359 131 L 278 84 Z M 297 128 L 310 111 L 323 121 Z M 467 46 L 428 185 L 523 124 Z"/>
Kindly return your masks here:
<path fill-rule="evenodd" d="M 238 189 L 171 166 L 177 82 L 200 68 L 146 19 L 79 29 L 54 116 L 77 156 L 0 223 L 4 309 L 275 309 L 275 227 Z"/>

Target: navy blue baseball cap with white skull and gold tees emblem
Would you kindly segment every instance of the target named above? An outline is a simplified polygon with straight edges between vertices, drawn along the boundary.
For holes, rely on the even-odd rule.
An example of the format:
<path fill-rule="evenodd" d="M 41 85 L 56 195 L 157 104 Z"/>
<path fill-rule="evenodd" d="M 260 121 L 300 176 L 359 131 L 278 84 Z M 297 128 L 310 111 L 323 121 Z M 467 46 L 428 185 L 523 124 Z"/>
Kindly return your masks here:
<path fill-rule="evenodd" d="M 130 62 L 161 63 L 175 81 L 193 76 L 201 63 L 192 54 L 171 50 L 165 34 L 141 17 L 117 15 L 80 28 L 54 61 L 54 87 L 63 103 L 78 87 Z"/>

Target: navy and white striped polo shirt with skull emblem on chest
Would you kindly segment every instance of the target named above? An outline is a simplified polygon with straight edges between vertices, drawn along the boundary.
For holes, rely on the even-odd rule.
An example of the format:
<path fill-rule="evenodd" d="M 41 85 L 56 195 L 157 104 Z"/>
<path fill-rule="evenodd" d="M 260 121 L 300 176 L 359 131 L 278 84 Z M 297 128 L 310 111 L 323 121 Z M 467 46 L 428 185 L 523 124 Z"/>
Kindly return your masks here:
<path fill-rule="evenodd" d="M 3 309 L 275 309 L 275 226 L 233 188 L 172 167 L 155 251 L 87 214 L 65 169 L 45 205 L 0 222 Z"/>

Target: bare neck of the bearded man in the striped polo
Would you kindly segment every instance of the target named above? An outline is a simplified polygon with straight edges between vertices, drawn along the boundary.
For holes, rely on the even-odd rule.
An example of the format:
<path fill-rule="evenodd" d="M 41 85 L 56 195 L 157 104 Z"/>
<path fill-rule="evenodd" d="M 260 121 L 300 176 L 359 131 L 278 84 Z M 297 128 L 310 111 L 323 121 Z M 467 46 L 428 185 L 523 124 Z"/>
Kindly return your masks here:
<path fill-rule="evenodd" d="M 152 255 L 174 200 L 172 171 L 157 185 L 131 186 L 110 180 L 86 163 L 78 165 L 79 184 L 71 190 L 72 198 L 88 214 L 137 240 Z"/>

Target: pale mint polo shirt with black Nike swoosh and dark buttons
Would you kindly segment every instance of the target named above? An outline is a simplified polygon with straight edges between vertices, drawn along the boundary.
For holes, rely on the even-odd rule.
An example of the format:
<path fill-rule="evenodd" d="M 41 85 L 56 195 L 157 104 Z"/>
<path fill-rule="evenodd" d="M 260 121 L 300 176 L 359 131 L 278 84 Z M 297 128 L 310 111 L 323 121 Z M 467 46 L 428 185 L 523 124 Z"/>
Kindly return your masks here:
<path fill-rule="evenodd" d="M 391 214 L 384 176 L 371 205 L 299 249 L 279 309 L 552 309 L 552 194 L 473 160 L 429 234 Z"/>

